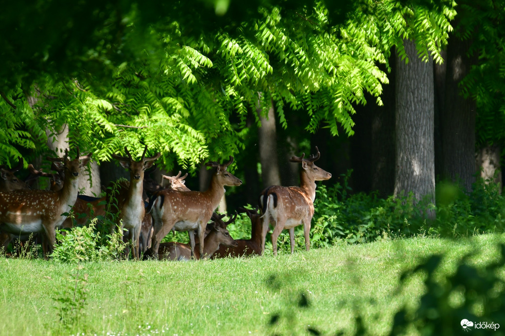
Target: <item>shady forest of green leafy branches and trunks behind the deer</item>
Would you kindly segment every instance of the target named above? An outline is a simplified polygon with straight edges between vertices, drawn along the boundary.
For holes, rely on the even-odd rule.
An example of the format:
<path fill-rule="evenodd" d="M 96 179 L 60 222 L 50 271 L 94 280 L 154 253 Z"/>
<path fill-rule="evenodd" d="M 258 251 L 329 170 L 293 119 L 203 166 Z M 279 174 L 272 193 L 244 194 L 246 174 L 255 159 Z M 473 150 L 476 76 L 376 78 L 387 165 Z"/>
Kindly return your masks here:
<path fill-rule="evenodd" d="M 1 162 L 22 157 L 48 171 L 46 156 L 78 146 L 95 160 L 82 190 L 98 194 L 126 176 L 111 157 L 125 146 L 161 152 L 154 178 L 186 170 L 194 190 L 207 187 L 203 163 L 231 155 L 244 181 L 227 191 L 236 209 L 255 205 L 268 185 L 298 184 L 288 159 L 318 146 L 318 165 L 334 175 L 319 199 L 324 225 L 337 217 L 359 224 L 332 235 L 405 233 L 406 218 L 428 229 L 425 220 L 458 201 L 468 213 L 451 213 L 459 217 L 445 230 L 492 210 L 492 223 L 463 227 L 502 231 L 504 7 L 10 2 L 0 13 Z M 498 184 L 490 189 L 478 176 Z M 367 206 L 361 217 L 345 218 L 343 208 L 357 204 Z M 370 225 L 377 213 L 398 213 L 401 228 L 391 219 Z"/>

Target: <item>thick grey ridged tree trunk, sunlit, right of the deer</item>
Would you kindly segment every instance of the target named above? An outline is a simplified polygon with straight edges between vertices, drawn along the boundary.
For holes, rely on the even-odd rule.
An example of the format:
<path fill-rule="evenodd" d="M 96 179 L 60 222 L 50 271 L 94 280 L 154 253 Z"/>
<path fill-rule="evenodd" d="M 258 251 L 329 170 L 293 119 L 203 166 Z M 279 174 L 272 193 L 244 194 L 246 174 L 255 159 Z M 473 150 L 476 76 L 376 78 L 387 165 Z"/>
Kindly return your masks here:
<path fill-rule="evenodd" d="M 419 59 L 414 42 L 404 45 L 409 63 L 397 59 L 394 195 L 413 192 L 416 199 L 428 195 L 434 202 L 433 61 Z"/>

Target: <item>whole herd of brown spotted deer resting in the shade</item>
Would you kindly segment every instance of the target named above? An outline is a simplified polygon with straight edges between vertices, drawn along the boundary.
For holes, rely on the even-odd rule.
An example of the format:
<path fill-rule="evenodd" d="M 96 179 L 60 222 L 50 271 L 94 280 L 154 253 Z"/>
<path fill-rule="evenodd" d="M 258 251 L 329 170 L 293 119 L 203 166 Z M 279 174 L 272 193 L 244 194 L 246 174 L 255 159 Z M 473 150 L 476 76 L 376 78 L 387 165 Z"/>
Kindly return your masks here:
<path fill-rule="evenodd" d="M 22 159 L 14 168 L 0 166 L 0 248 L 7 248 L 14 238 L 39 235 L 44 258 L 48 258 L 57 243 L 57 229 L 85 225 L 92 217 L 103 218 L 109 212 L 117 219 L 111 232 L 119 230 L 119 234 L 124 234 L 123 239 L 128 242 L 124 254 L 128 257 L 131 248 L 131 255 L 137 260 L 142 257 L 190 260 L 263 255 L 270 226 L 274 255 L 277 255 L 277 239 L 284 229 L 289 231 L 293 253 L 294 227 L 298 225 L 303 225 L 305 247 L 309 251 L 315 181 L 331 177 L 314 164 L 320 158 L 317 147 L 316 154 L 309 158 L 305 158 L 304 153 L 290 159 L 301 164 L 299 186 L 269 186 L 259 196 L 259 210 L 240 208 L 251 222 L 251 238 L 247 240 L 234 240 L 226 229 L 236 214 L 224 222 L 224 215 L 215 213 L 224 196 L 224 187 L 242 184 L 227 170 L 233 157 L 222 164 L 206 163 L 213 168 L 213 174 L 209 188 L 200 192 L 185 186 L 187 174 L 181 177 L 181 172 L 176 176 L 162 175 L 161 184 L 144 179 L 145 170 L 154 165 L 160 153 L 146 157 L 146 146 L 140 160 L 136 161 L 126 147 L 124 151 L 127 156 L 114 154 L 113 158 L 128 170 L 130 180 L 114 183 L 101 198 L 78 194 L 80 168 L 91 159 L 91 154 L 80 156 L 78 148 L 73 160 L 68 150 L 63 158 L 47 158 L 52 161 L 51 169 L 55 173 L 42 172 L 28 165 L 29 179 L 51 178 L 49 190 L 32 190 L 16 177 L 15 173 L 23 167 Z M 63 215 L 71 211 L 72 217 Z M 187 231 L 189 244 L 162 242 L 170 231 Z"/>

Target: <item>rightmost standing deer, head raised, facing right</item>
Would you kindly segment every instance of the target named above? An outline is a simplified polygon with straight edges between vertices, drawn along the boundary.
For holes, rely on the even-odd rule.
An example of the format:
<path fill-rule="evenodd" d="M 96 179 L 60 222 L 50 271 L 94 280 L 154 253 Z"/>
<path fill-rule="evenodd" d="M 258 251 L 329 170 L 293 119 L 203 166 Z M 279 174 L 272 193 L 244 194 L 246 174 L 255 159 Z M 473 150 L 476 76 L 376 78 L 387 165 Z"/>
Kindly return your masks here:
<path fill-rule="evenodd" d="M 291 243 L 291 253 L 294 252 L 294 227 L 304 225 L 305 248 L 309 251 L 311 242 L 309 233 L 311 221 L 314 216 L 314 199 L 316 198 L 316 182 L 327 180 L 331 174 L 314 164 L 321 154 L 316 146 L 316 155 L 311 155 L 309 159 L 304 159 L 305 153 L 301 157 L 293 156 L 289 161 L 301 163 L 300 186 L 283 187 L 273 185 L 260 195 L 259 205 L 263 218 L 263 232 L 261 235 L 261 251 L 265 251 L 265 237 L 268 226 L 272 224 L 272 249 L 277 255 L 277 238 L 283 229 L 289 230 Z"/>

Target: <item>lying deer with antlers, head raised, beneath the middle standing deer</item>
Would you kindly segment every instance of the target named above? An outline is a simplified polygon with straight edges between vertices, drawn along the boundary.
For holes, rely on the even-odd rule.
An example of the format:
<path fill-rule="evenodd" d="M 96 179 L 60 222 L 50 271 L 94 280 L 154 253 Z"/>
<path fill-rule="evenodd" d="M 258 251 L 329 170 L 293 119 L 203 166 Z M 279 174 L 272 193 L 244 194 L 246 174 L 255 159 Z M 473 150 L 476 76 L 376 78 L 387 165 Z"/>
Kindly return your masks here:
<path fill-rule="evenodd" d="M 204 239 L 204 252 L 200 254 L 199 248 L 194 250 L 194 258 L 210 258 L 215 251 L 219 249 L 219 246 L 237 246 L 237 242 L 233 240 L 230 233 L 226 229 L 226 226 L 233 222 L 236 218 L 232 218 L 230 221 L 224 223 L 222 218 L 224 215 L 219 217 L 213 216 L 214 222 L 207 224 L 207 229 L 209 233 Z M 198 247 L 198 244 L 196 244 Z M 182 244 L 176 242 L 161 243 L 159 247 L 159 259 L 160 260 L 191 260 L 191 246 L 189 244 Z"/>

